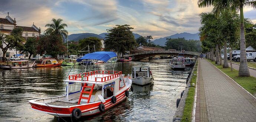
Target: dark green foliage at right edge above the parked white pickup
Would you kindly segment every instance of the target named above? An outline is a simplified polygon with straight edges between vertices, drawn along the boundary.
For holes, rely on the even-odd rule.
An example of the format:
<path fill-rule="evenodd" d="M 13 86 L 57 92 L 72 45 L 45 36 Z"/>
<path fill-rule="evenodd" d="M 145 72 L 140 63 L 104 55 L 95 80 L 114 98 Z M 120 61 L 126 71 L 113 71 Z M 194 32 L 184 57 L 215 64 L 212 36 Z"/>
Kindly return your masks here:
<path fill-rule="evenodd" d="M 256 29 L 246 33 L 245 40 L 246 47 L 252 46 L 252 48 L 256 49 Z"/>

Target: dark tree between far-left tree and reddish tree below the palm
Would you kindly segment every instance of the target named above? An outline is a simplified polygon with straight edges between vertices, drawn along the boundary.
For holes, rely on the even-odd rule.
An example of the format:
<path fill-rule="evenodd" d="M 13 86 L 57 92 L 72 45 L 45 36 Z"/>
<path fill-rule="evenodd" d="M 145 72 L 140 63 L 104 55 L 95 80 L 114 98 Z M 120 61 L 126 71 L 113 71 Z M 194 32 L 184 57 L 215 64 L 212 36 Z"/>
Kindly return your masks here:
<path fill-rule="evenodd" d="M 36 38 L 28 38 L 26 43 L 24 44 L 24 49 L 22 53 L 29 52 L 29 59 L 30 59 L 31 55 L 36 54 L 36 45 L 37 45 Z"/>

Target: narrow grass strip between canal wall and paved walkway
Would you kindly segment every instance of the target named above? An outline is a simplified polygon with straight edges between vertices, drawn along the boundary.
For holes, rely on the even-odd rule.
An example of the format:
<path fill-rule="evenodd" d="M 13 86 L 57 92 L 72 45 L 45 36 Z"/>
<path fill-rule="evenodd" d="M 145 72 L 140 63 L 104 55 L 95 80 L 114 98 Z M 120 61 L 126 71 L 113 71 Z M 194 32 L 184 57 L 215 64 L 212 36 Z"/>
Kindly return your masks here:
<path fill-rule="evenodd" d="M 196 63 L 196 66 L 197 64 L 198 62 Z M 193 74 L 197 74 L 197 68 L 194 70 L 193 73 L 191 73 L 191 75 Z M 196 79 L 197 79 L 197 75 L 196 76 L 193 75 L 190 81 L 191 87 L 188 90 L 188 96 L 186 98 L 186 102 L 185 102 L 186 104 L 184 107 L 184 112 L 181 118 L 181 122 L 191 122 L 193 105 L 194 105 L 194 96 L 195 96 L 195 87 L 192 87 L 192 84 L 194 83 L 196 85 Z"/>

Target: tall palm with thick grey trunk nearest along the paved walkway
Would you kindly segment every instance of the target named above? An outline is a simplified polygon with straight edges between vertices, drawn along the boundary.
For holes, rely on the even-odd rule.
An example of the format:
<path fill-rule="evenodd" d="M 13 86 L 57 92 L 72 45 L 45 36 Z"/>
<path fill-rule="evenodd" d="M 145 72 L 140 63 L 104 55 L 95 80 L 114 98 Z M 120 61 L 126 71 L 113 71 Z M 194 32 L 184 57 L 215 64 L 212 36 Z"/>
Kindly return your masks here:
<path fill-rule="evenodd" d="M 223 10 L 240 10 L 240 66 L 239 77 L 250 77 L 250 72 L 246 59 L 245 35 L 244 35 L 244 16 L 243 7 L 250 6 L 256 9 L 256 0 L 198 0 L 199 7 L 213 6 L 215 14 L 220 14 Z"/>

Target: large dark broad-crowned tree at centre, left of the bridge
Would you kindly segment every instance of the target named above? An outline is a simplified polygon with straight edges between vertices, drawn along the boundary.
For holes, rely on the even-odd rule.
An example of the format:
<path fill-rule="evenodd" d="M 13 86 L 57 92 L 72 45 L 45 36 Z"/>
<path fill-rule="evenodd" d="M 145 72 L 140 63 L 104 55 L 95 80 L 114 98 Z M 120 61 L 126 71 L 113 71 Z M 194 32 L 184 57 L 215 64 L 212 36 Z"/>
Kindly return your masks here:
<path fill-rule="evenodd" d="M 132 27 L 129 25 L 116 25 L 112 29 L 107 30 L 106 34 L 105 50 L 113 50 L 115 52 L 125 54 L 126 51 L 130 51 L 137 46 L 136 40 L 132 35 Z"/>

